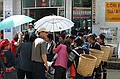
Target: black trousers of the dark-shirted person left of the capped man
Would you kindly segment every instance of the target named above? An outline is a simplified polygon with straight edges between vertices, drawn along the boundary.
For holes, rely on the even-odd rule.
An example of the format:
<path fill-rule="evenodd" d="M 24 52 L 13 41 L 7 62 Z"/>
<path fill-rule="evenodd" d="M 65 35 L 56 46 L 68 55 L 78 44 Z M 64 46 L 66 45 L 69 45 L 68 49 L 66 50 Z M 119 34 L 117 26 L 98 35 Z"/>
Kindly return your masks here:
<path fill-rule="evenodd" d="M 21 69 L 17 70 L 17 75 L 18 75 L 18 79 L 25 79 L 25 75 L 26 75 L 26 79 L 33 79 L 32 72 L 24 71 Z"/>

